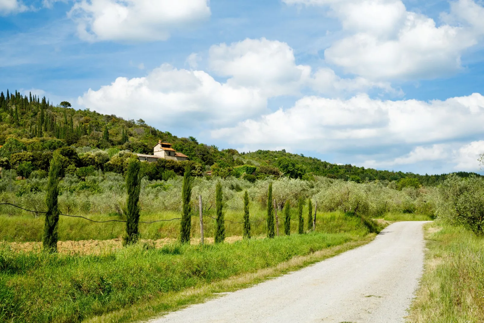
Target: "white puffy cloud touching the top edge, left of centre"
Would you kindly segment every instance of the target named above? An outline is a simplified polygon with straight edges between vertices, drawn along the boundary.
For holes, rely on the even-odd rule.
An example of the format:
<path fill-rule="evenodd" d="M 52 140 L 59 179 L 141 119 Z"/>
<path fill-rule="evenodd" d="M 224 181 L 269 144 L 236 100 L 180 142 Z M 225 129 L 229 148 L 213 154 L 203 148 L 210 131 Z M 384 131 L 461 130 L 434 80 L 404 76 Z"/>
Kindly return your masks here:
<path fill-rule="evenodd" d="M 81 0 L 69 16 L 84 40 L 153 41 L 208 18 L 210 7 L 208 0 Z"/>

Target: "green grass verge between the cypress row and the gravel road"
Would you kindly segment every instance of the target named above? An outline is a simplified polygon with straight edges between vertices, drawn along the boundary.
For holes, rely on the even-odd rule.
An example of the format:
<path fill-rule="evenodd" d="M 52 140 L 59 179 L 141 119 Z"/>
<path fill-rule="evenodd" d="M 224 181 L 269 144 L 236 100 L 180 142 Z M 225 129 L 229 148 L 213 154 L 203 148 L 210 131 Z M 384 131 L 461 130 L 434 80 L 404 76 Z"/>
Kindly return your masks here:
<path fill-rule="evenodd" d="M 343 220 L 351 226 L 352 219 L 343 216 Z M 358 223 L 346 233 L 315 232 L 203 246 L 172 243 L 160 249 L 138 243 L 87 256 L 14 252 L 4 243 L 0 248 L 0 321 L 81 322 L 133 305 L 136 307 L 131 312 L 124 310 L 118 319 L 133 317 L 136 312 L 138 316 L 145 312 L 149 316 L 200 301 L 219 290 L 257 282 L 269 275 L 257 274 L 261 269 L 334 246 L 346 245 L 341 250 L 350 248 L 374 236 Z M 331 252 L 320 257 L 328 255 Z M 317 261 L 318 257 L 294 260 L 292 267 L 282 266 L 267 273 L 293 270 Z M 244 274 L 252 278 L 228 285 L 220 282 Z M 214 282 L 220 285 L 207 287 Z M 194 294 L 189 289 L 200 292 Z M 177 294 L 182 291 L 187 291 L 185 296 Z"/>

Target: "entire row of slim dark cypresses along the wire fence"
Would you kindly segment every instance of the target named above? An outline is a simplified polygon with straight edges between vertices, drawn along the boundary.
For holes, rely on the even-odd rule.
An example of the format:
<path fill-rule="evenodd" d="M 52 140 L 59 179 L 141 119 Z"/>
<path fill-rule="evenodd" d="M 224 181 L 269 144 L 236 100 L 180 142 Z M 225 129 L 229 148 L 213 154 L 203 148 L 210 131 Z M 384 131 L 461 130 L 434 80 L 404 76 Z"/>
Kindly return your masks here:
<path fill-rule="evenodd" d="M 140 178 L 140 162 L 137 159 L 129 161 L 128 169 L 126 171 L 126 190 L 128 193 L 126 199 L 126 207 L 124 212 L 126 214 L 126 236 L 123 239 L 125 245 L 136 243 L 139 239 L 139 192 L 141 188 Z M 183 175 L 183 184 L 181 188 L 181 223 L 180 223 L 180 240 L 182 243 L 190 242 L 191 231 L 191 206 L 190 197 L 192 194 L 192 177 L 190 176 L 191 169 L 187 167 Z M 58 223 L 59 223 L 59 176 L 61 174 L 61 163 L 58 158 L 54 157 L 50 163 L 47 194 L 45 203 L 47 205 L 47 212 L 45 214 L 45 226 L 43 236 L 43 246 L 48 252 L 57 251 L 58 241 Z M 215 186 L 215 213 L 216 213 L 216 230 L 215 243 L 224 242 L 225 240 L 225 215 L 223 211 L 223 196 L 222 184 L 220 181 Z M 243 237 L 244 239 L 251 238 L 251 226 L 249 220 L 249 195 L 245 191 L 243 196 L 244 214 L 243 214 Z M 313 208 L 311 200 L 308 201 L 308 230 L 313 228 Z M 304 233 L 304 220 L 302 218 L 302 209 L 304 201 L 302 198 L 298 201 L 298 233 Z M 284 233 L 290 234 L 290 205 L 286 201 L 283 210 L 284 214 Z M 272 204 L 272 183 L 269 184 L 267 192 L 267 237 L 274 238 L 274 207 Z"/>

